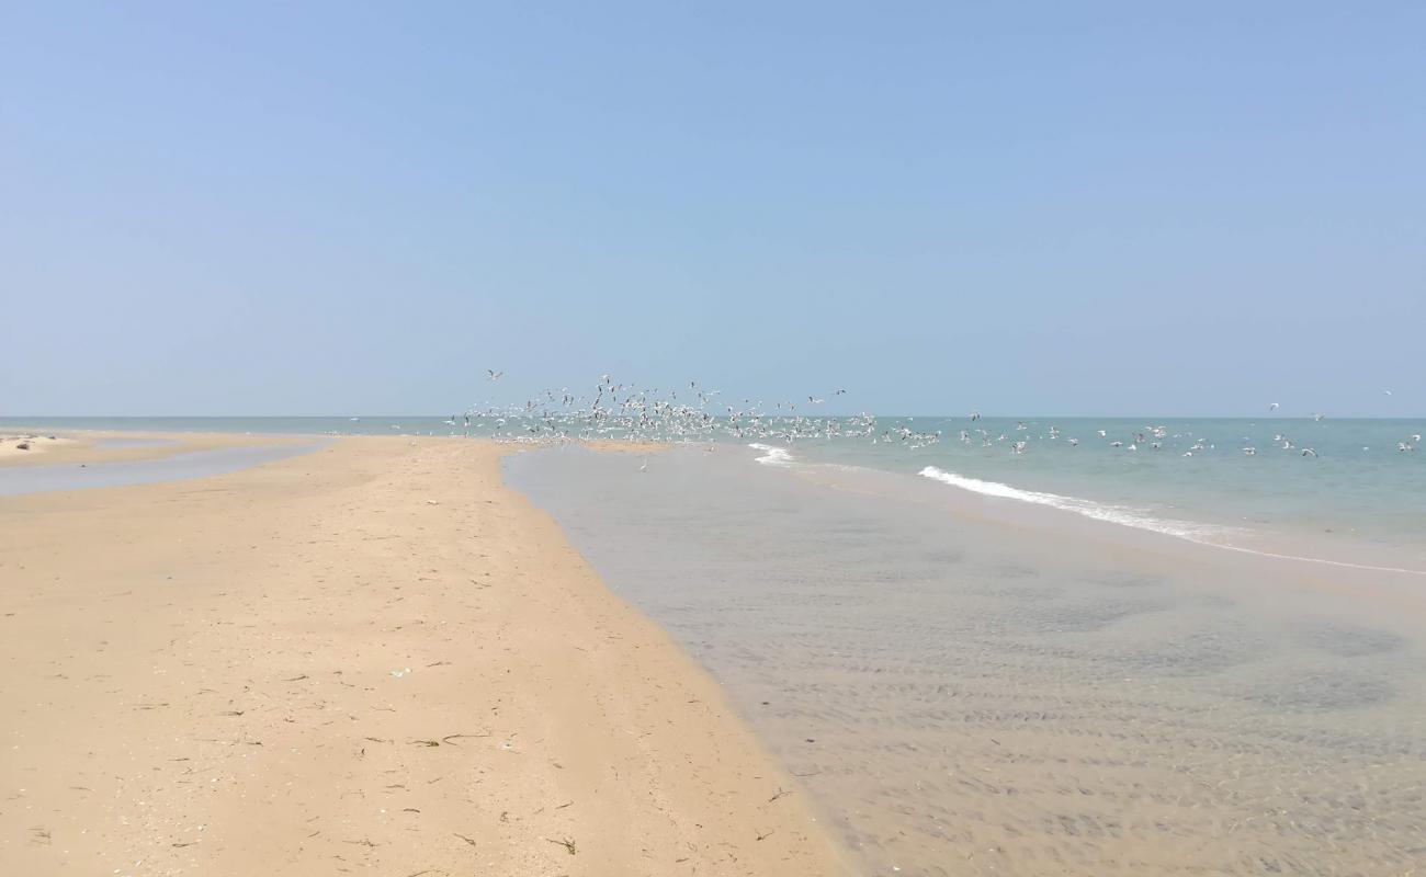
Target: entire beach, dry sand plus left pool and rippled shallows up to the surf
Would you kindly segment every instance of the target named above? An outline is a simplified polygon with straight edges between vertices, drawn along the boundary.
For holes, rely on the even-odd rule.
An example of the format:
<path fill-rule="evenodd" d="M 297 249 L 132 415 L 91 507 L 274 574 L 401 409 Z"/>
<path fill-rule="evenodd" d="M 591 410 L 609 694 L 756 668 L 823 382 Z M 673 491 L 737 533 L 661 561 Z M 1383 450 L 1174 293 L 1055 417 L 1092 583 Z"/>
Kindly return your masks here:
<path fill-rule="evenodd" d="M 1390 546 L 763 442 L 57 435 L 0 466 L 6 873 L 1395 877 L 1426 848 L 1426 575 Z"/>

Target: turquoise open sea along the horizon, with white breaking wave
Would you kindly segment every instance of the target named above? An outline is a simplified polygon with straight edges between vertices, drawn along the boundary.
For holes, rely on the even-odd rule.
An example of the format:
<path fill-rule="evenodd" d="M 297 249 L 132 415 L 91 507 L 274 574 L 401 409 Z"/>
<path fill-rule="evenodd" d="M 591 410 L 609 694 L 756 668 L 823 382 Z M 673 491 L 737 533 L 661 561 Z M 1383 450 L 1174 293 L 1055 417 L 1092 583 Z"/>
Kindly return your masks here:
<path fill-rule="evenodd" d="M 0 432 L 19 426 L 512 441 L 639 432 L 632 421 L 590 424 L 569 415 L 472 416 L 469 426 L 463 415 L 0 418 Z M 1426 432 L 1426 418 L 763 418 L 756 425 L 712 418 L 697 428 L 684 418 L 679 426 L 663 438 L 757 443 L 780 449 L 769 462 L 920 475 L 944 481 L 947 489 L 1057 505 L 1204 540 L 1281 536 L 1426 556 L 1426 448 L 1415 449 L 1420 441 L 1413 438 Z M 1020 452 L 1017 442 L 1024 442 Z M 1412 449 L 1400 451 L 1403 445 Z"/>

